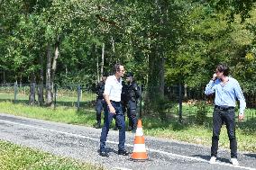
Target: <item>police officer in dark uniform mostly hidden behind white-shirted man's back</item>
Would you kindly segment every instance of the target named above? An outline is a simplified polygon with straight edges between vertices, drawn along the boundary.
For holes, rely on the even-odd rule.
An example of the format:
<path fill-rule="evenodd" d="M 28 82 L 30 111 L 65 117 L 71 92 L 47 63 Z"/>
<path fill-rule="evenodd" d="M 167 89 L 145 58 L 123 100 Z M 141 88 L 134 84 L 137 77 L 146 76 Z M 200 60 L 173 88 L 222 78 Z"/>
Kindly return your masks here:
<path fill-rule="evenodd" d="M 104 74 L 101 78 L 101 81 L 96 86 L 96 124 L 95 128 L 101 128 L 101 112 L 104 110 L 104 90 L 105 90 L 105 80 L 107 78 L 107 74 Z"/>

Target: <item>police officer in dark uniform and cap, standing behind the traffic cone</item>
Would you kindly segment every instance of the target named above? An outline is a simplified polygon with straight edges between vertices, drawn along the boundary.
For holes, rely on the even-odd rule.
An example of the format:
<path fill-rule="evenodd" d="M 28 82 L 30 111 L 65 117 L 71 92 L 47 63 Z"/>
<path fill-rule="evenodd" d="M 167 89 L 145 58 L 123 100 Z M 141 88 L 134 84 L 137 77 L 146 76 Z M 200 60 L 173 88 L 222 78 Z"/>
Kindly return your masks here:
<path fill-rule="evenodd" d="M 126 76 L 126 81 L 128 83 L 127 87 L 127 116 L 129 119 L 129 127 L 128 130 L 133 130 L 135 132 L 137 127 L 137 116 L 136 109 L 138 99 L 140 97 L 139 86 L 134 80 L 133 73 L 128 73 Z"/>

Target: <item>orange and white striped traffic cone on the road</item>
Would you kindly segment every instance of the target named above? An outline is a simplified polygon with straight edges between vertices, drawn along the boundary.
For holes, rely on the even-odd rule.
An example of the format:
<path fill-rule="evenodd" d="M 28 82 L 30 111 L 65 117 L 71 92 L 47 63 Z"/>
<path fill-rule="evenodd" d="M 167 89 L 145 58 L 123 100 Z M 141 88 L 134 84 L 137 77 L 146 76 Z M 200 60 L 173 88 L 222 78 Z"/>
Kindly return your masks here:
<path fill-rule="evenodd" d="M 142 120 L 138 120 L 131 159 L 133 161 L 145 161 L 149 159 L 142 131 Z"/>

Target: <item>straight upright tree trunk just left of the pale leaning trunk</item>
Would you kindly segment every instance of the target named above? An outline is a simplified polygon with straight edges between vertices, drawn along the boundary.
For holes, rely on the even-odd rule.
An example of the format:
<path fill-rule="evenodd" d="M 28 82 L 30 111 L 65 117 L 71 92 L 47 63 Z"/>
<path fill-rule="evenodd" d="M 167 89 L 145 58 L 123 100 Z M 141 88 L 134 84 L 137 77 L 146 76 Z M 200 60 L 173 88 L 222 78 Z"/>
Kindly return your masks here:
<path fill-rule="evenodd" d="M 51 48 L 50 48 L 50 43 L 47 46 L 47 63 L 46 63 L 46 105 L 51 105 L 52 103 L 52 95 L 51 95 Z"/>

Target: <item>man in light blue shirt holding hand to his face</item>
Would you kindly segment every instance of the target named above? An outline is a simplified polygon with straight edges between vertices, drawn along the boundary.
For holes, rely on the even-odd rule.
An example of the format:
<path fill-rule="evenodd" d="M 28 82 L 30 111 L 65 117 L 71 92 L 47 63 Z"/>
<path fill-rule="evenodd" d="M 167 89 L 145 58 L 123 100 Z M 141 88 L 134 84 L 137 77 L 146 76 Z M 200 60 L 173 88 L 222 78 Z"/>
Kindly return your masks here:
<path fill-rule="evenodd" d="M 216 67 L 215 74 L 206 85 L 206 95 L 215 94 L 215 110 L 213 115 L 213 137 L 210 164 L 215 164 L 218 150 L 218 140 L 223 123 L 225 123 L 230 140 L 231 163 L 238 166 L 237 141 L 235 137 L 235 112 L 236 100 L 240 102 L 238 119 L 241 121 L 246 107 L 242 89 L 233 77 L 229 76 L 229 67 L 220 64 Z"/>

